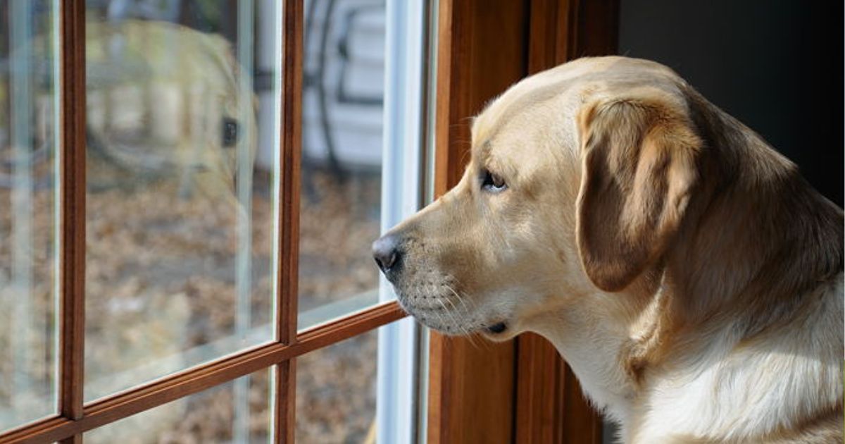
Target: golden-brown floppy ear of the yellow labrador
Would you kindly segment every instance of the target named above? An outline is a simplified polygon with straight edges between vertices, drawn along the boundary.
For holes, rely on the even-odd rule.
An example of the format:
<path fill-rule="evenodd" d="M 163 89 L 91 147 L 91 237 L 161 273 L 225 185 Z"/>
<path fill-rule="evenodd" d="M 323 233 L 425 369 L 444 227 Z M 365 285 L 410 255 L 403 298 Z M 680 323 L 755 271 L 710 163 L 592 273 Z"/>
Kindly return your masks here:
<path fill-rule="evenodd" d="M 698 180 L 701 140 L 659 97 L 587 104 L 578 115 L 581 263 L 602 290 L 627 287 L 665 251 Z"/>

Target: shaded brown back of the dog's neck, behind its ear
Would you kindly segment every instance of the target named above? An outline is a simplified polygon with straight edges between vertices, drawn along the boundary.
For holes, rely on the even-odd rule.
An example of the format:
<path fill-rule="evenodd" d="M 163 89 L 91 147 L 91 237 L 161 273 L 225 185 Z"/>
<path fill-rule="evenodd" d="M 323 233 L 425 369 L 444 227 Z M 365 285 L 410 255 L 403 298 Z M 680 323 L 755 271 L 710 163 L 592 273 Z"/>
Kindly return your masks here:
<path fill-rule="evenodd" d="M 668 310 L 686 328 L 745 314 L 750 336 L 842 271 L 842 210 L 742 123 L 701 109 L 711 145 L 701 174 L 715 180 L 699 190 L 667 252 Z"/>

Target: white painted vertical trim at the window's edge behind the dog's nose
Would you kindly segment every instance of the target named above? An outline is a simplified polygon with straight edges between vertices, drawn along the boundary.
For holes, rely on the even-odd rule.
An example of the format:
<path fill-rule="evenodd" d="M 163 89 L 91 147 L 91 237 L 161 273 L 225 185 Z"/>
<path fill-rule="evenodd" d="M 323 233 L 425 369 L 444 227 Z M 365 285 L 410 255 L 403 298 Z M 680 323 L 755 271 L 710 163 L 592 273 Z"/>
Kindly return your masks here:
<path fill-rule="evenodd" d="M 386 0 L 382 232 L 421 206 L 426 0 Z M 379 300 L 395 299 L 380 278 Z M 417 324 L 379 328 L 377 441 L 410 443 L 417 432 Z"/>

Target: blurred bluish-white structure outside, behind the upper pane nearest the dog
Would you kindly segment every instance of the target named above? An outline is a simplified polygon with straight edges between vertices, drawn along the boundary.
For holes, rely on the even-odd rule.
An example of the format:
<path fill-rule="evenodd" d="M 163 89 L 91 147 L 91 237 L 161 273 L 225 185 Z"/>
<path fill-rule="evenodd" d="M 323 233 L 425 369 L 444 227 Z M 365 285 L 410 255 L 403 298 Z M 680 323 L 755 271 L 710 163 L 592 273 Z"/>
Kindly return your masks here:
<path fill-rule="evenodd" d="M 319 139 L 309 138 L 307 134 L 303 139 L 303 168 L 307 170 L 303 173 L 303 186 L 310 199 L 315 197 L 315 190 L 313 174 L 309 172 L 318 163 L 325 162 L 341 182 L 351 169 L 380 167 L 380 146 L 379 150 L 373 150 L 373 156 L 373 152 L 367 152 L 367 146 L 356 146 L 366 142 L 362 144 L 362 134 L 355 133 L 374 126 L 376 137 L 381 135 L 384 8 L 384 2 L 308 2 L 303 87 L 306 96 L 308 90 L 313 90 L 316 100 L 313 117 L 317 121 L 305 124 L 319 130 L 319 134 L 314 134 Z M 363 91 L 350 91 L 349 85 Z M 308 100 L 305 107 L 309 107 Z M 352 125 L 350 113 L 356 115 Z M 350 126 L 356 127 L 352 134 L 349 134 Z M 350 136 L 352 143 L 345 140 Z"/>

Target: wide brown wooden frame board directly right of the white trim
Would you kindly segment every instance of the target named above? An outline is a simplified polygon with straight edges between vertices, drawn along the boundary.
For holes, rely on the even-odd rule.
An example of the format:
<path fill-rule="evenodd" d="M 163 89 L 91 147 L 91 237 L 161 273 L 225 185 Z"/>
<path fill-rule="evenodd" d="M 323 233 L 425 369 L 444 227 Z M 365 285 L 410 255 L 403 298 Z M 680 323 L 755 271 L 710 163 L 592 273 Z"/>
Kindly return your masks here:
<path fill-rule="evenodd" d="M 526 75 L 527 0 L 440 0 L 435 194 L 461 178 L 469 119 Z M 432 334 L 428 442 L 509 442 L 515 343 L 472 345 Z"/>

